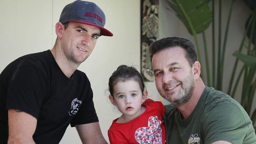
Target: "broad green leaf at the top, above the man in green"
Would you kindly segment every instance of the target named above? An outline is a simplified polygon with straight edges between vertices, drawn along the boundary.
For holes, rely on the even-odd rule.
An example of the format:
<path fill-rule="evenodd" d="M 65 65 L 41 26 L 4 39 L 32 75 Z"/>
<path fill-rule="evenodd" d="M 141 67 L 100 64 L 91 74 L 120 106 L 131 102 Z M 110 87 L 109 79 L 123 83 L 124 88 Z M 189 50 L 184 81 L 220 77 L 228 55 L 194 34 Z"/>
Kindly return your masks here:
<path fill-rule="evenodd" d="M 201 33 L 206 30 L 212 20 L 210 7 L 208 6 L 209 0 L 179 0 L 180 6 L 183 7 L 189 19 L 195 28 L 196 33 Z M 189 26 L 188 20 L 184 16 L 180 6 L 176 0 L 166 0 L 167 4 L 176 12 L 177 17 L 184 23 L 187 30 L 193 35 Z"/>

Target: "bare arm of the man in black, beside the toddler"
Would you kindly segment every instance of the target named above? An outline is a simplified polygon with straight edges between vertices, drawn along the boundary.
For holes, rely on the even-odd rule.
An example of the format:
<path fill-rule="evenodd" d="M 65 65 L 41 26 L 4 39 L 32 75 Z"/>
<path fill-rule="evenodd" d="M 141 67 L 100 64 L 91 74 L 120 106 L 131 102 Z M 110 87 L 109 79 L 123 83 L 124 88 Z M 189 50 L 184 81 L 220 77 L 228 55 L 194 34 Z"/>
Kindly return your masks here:
<path fill-rule="evenodd" d="M 76 125 L 83 144 L 108 144 L 104 139 L 98 122 Z"/>

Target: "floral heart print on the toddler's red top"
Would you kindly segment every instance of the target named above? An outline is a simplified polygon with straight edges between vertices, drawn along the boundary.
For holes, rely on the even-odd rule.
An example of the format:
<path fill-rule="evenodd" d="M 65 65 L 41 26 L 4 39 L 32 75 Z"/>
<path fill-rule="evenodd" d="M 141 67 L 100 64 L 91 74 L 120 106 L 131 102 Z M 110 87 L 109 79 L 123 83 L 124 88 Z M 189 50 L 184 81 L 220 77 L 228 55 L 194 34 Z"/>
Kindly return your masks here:
<path fill-rule="evenodd" d="M 135 139 L 139 144 L 162 144 L 161 121 L 157 116 L 148 118 L 148 127 L 139 127 L 135 131 Z"/>

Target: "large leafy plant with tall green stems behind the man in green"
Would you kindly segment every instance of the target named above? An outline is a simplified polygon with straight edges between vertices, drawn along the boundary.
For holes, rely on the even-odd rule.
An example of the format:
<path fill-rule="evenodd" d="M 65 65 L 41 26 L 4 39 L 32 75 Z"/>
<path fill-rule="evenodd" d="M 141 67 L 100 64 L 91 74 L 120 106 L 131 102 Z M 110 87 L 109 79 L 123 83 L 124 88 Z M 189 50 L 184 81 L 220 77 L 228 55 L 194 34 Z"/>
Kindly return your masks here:
<path fill-rule="evenodd" d="M 186 26 L 188 32 L 193 35 L 195 38 L 195 46 L 197 48 L 198 53 L 198 61 L 202 61 L 200 54 L 200 46 L 198 44 L 198 34 L 202 33 L 202 39 L 204 42 L 204 55 L 206 62 L 206 79 L 204 72 L 202 70 L 202 78 L 203 80 L 207 80 L 207 85 L 212 86 L 217 90 L 222 90 L 223 87 L 223 71 L 224 71 L 224 55 L 226 52 L 226 43 L 228 37 L 228 30 L 230 25 L 230 19 L 233 11 L 233 6 L 236 0 L 231 0 L 230 9 L 228 13 L 228 19 L 226 22 L 226 28 L 224 37 L 221 35 L 221 15 L 222 15 L 222 6 L 221 1 L 219 0 L 219 16 L 215 17 L 215 0 L 211 0 L 211 9 L 209 7 L 210 0 L 166 0 L 167 4 L 171 7 L 173 11 L 175 11 L 177 17 L 183 22 Z M 244 0 L 246 4 L 252 10 L 252 15 L 247 20 L 245 34 L 243 39 L 241 40 L 241 44 L 239 48 L 237 48 L 236 52 L 233 52 L 233 55 L 236 57 L 236 61 L 234 62 L 234 68 L 232 70 L 232 74 L 230 76 L 229 87 L 227 90 L 227 94 L 234 97 L 237 84 L 242 79 L 243 76 L 243 88 L 241 94 L 241 105 L 247 111 L 247 113 L 251 114 L 252 101 L 256 91 L 256 1 L 255 0 Z M 215 41 L 215 20 L 218 20 L 218 42 Z M 205 31 L 208 29 L 210 24 L 212 23 L 212 46 L 211 46 L 211 54 L 212 54 L 212 74 L 210 74 L 210 65 L 208 59 L 208 47 L 206 43 L 206 34 Z M 248 42 L 246 40 L 248 39 Z M 217 44 L 215 44 L 217 43 Z M 215 63 L 216 52 L 217 50 L 217 64 Z M 243 53 L 242 53 L 243 50 Z M 244 54 L 245 53 L 245 54 Z M 242 62 L 242 68 L 238 68 L 238 63 Z M 216 68 L 217 66 L 217 68 Z M 235 79 L 236 72 L 239 72 L 238 76 Z M 234 80 L 236 81 L 233 85 Z M 251 120 L 254 125 L 256 121 L 256 109 L 251 114 Z M 255 128 L 255 127 L 254 127 Z"/>

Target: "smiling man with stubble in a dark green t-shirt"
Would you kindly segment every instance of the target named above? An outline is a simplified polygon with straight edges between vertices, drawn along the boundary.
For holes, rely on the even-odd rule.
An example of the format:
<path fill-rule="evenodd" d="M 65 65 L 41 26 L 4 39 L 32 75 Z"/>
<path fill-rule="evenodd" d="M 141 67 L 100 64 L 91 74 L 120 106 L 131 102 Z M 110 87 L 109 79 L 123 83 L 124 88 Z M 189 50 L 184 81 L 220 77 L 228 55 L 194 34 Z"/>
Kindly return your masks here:
<path fill-rule="evenodd" d="M 156 87 L 165 106 L 167 144 L 256 144 L 250 117 L 227 94 L 206 87 L 195 46 L 168 37 L 150 46 Z"/>

